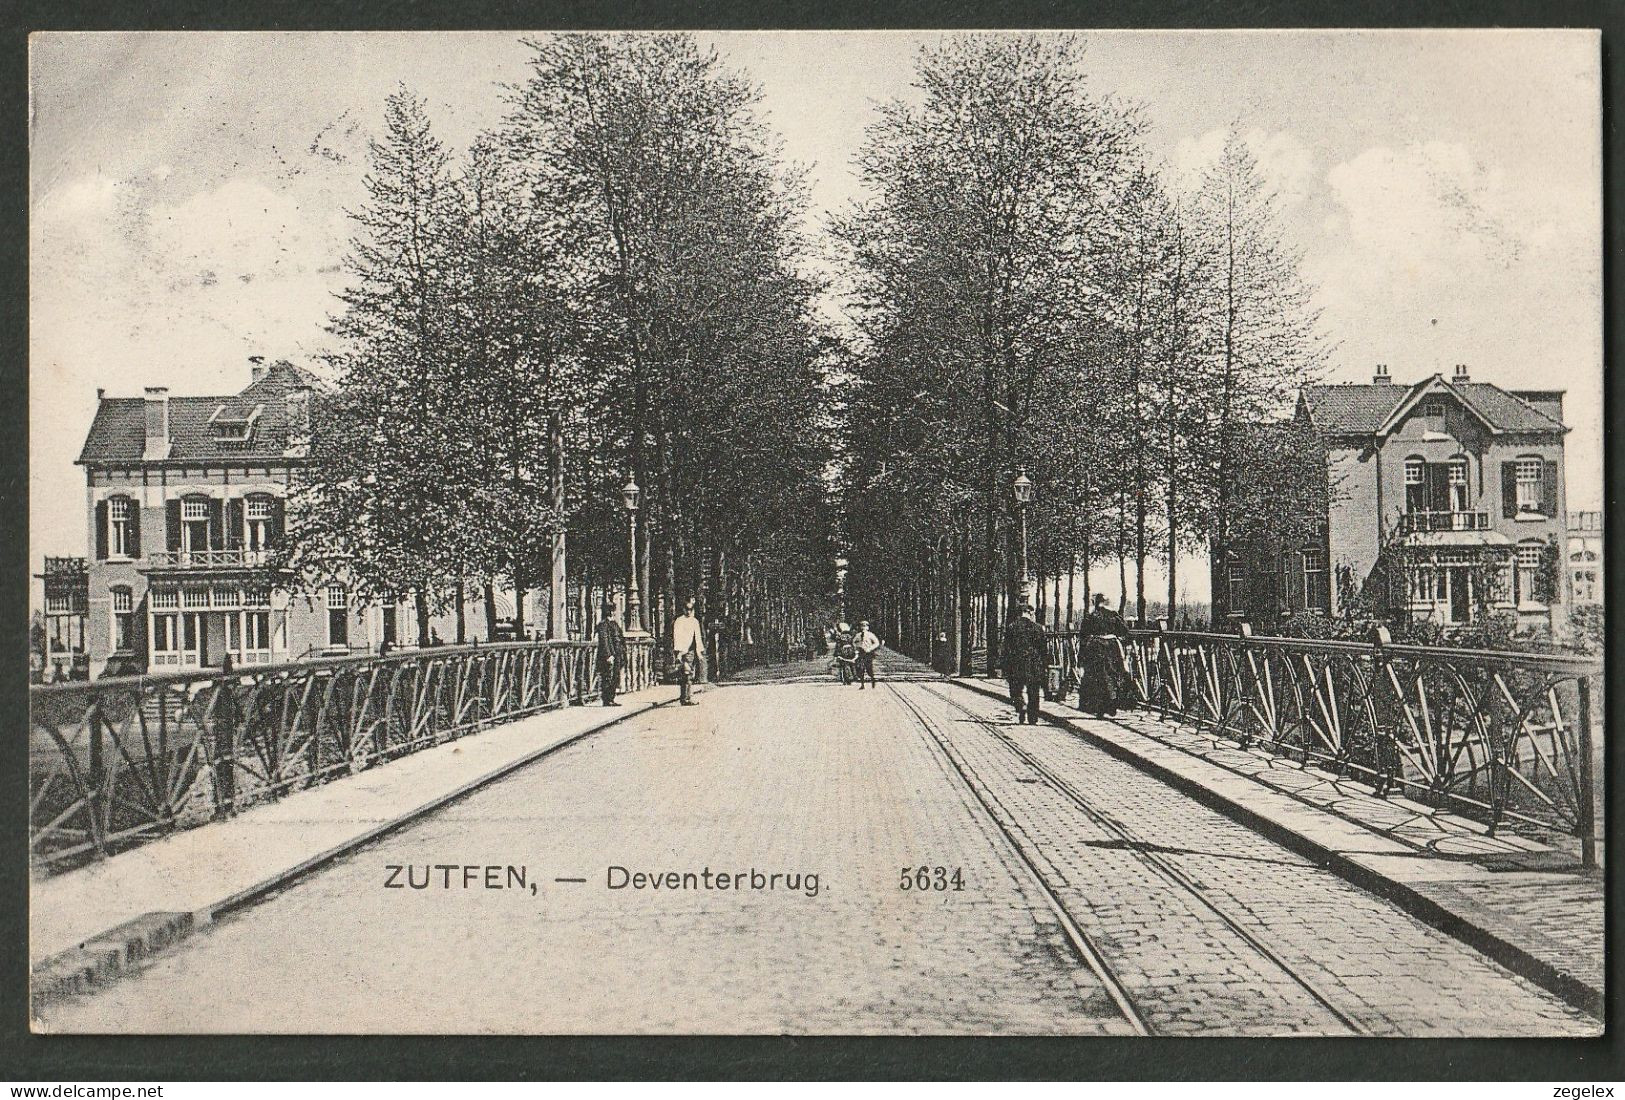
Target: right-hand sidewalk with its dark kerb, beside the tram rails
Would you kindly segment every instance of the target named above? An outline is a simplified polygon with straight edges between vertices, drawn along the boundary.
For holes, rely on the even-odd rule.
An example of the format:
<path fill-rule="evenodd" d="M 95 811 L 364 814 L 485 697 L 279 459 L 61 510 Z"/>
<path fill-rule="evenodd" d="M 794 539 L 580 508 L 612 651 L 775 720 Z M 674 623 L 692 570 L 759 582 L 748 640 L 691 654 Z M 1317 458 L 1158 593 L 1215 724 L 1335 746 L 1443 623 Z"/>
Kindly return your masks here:
<path fill-rule="evenodd" d="M 1009 699 L 1003 681 L 954 681 Z M 1045 715 L 1272 840 L 1477 947 L 1601 1017 L 1602 873 L 1568 837 L 1534 840 L 1370 786 L 1242 749 L 1146 710 Z"/>

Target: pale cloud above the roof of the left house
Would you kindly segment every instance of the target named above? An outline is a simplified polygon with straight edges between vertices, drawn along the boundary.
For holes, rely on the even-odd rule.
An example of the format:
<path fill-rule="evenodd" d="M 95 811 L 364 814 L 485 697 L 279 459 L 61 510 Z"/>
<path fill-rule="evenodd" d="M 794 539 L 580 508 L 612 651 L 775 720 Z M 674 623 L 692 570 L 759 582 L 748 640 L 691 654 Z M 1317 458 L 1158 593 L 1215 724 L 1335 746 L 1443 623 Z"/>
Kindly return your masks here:
<path fill-rule="evenodd" d="M 29 474 L 34 552 L 84 552 L 73 457 L 110 396 L 167 385 L 232 393 L 247 356 L 309 362 L 343 281 L 341 201 L 236 175 L 198 188 L 84 174 L 37 197 L 31 219 Z M 314 198 L 312 198 L 314 195 Z M 312 211 L 322 211 L 315 214 Z"/>

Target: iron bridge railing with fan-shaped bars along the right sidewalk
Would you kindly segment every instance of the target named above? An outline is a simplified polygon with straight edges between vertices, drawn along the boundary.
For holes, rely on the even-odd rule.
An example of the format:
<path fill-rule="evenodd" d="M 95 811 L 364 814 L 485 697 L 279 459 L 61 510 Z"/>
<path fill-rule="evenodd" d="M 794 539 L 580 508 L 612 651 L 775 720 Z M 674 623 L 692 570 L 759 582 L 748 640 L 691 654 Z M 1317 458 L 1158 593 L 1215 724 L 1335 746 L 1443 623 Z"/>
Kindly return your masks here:
<path fill-rule="evenodd" d="M 1050 634 L 1076 684 L 1084 647 Z M 1602 663 L 1588 658 L 1133 630 L 1112 639 L 1141 707 L 1243 747 L 1401 788 L 1484 821 L 1555 829 L 1596 861 Z"/>

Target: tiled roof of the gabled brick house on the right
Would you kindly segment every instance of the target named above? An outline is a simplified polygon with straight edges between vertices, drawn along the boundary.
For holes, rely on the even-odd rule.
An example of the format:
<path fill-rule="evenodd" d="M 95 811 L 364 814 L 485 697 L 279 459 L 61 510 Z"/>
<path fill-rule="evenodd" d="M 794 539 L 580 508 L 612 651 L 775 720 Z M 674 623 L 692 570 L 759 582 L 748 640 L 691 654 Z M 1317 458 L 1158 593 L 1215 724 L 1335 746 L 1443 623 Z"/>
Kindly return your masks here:
<path fill-rule="evenodd" d="M 1329 435 L 1384 435 L 1428 393 L 1448 393 L 1492 432 L 1563 432 L 1562 421 L 1488 382 L 1446 382 L 1432 375 L 1415 385 L 1306 385 L 1310 422 Z"/>

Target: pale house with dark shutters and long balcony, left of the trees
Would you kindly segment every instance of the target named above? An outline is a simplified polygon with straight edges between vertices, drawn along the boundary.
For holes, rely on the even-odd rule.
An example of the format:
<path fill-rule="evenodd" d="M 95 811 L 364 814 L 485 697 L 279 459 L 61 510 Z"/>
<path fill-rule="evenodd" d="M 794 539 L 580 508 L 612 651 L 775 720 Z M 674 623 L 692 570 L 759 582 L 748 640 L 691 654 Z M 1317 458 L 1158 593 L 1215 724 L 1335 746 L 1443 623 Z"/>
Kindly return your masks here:
<path fill-rule="evenodd" d="M 91 676 L 343 656 L 393 635 L 395 608 L 361 608 L 340 582 L 291 593 L 268 569 L 317 385 L 255 359 L 228 396 L 99 395 L 78 458 Z"/>

